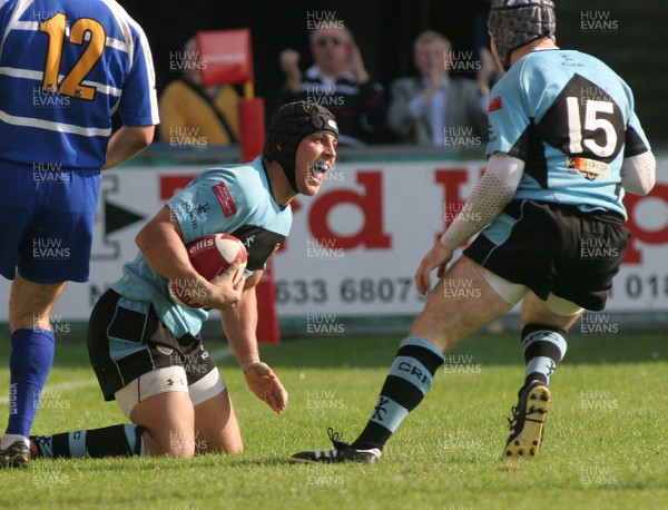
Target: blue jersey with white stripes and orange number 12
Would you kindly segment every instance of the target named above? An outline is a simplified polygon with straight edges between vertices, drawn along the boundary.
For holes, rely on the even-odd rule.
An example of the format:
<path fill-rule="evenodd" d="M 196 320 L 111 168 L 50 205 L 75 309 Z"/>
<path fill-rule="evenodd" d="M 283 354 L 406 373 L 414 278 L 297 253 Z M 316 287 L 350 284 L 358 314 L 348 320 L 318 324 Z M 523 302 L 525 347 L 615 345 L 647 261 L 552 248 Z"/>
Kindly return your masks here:
<path fill-rule="evenodd" d="M 0 159 L 106 160 L 111 114 L 158 124 L 141 28 L 114 0 L 0 0 Z"/>

